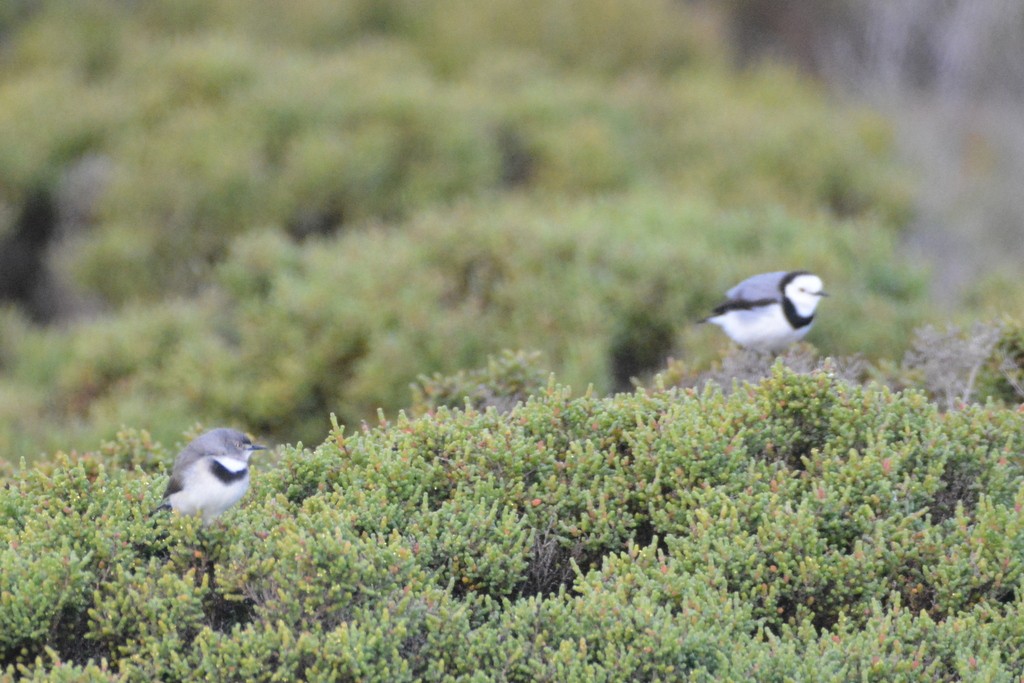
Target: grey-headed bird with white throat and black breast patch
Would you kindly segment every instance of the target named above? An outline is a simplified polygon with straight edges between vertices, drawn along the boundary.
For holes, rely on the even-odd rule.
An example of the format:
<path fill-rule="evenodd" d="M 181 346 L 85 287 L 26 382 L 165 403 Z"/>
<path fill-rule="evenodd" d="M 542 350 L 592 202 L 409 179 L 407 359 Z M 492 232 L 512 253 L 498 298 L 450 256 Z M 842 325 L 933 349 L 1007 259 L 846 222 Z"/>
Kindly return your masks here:
<path fill-rule="evenodd" d="M 209 524 L 238 503 L 249 488 L 249 458 L 266 446 L 254 444 L 234 429 L 214 429 L 197 437 L 178 454 L 157 510 L 200 513 Z"/>

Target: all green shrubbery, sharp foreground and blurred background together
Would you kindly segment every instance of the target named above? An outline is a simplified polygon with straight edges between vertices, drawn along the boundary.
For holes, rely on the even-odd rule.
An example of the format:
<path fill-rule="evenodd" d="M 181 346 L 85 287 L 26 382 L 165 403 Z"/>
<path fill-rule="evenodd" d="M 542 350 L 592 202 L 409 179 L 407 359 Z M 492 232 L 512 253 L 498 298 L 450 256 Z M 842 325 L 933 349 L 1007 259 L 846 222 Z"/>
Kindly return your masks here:
<path fill-rule="evenodd" d="M 724 36 L 0 3 L 0 680 L 1019 677 L 1024 327 L 914 332 L 888 124 Z M 814 346 L 692 325 L 779 268 Z M 151 516 L 200 425 L 282 445 Z"/>

